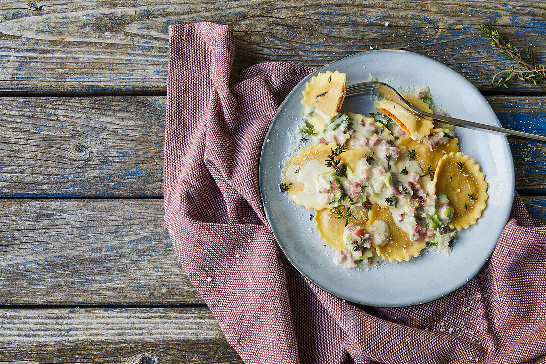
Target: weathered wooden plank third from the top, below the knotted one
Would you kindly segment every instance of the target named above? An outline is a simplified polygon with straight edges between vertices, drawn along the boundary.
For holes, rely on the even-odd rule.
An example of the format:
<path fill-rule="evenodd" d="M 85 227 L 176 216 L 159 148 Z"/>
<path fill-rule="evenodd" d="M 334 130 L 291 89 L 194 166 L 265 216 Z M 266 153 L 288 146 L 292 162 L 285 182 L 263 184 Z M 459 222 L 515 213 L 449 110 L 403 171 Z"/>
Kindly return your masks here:
<path fill-rule="evenodd" d="M 546 221 L 546 197 L 524 201 Z M 0 218 L 2 304 L 204 303 L 170 245 L 161 199 L 4 199 Z"/>

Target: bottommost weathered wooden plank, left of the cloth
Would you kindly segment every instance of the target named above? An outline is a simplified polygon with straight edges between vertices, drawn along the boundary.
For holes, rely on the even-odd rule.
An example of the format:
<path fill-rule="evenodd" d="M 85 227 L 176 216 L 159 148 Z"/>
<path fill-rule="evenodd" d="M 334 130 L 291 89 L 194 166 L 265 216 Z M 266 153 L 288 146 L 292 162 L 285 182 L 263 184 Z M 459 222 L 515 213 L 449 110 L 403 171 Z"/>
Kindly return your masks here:
<path fill-rule="evenodd" d="M 0 363 L 240 363 L 212 313 L 2 309 Z"/>

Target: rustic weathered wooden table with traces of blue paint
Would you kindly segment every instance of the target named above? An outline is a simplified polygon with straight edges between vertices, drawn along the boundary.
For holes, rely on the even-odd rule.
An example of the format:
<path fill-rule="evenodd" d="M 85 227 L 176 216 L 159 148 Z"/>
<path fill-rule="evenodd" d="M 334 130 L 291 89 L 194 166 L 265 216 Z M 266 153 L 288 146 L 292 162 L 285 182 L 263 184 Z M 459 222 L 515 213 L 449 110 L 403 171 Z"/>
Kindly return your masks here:
<path fill-rule="evenodd" d="M 168 26 L 232 26 L 235 73 L 397 48 L 446 63 L 502 124 L 546 133 L 546 86 L 490 85 L 510 62 L 477 26 L 546 52 L 546 3 L 4 0 L 0 4 L 0 362 L 241 363 L 163 221 Z M 388 26 L 385 23 L 388 22 Z M 511 139 L 546 220 L 546 148 Z"/>

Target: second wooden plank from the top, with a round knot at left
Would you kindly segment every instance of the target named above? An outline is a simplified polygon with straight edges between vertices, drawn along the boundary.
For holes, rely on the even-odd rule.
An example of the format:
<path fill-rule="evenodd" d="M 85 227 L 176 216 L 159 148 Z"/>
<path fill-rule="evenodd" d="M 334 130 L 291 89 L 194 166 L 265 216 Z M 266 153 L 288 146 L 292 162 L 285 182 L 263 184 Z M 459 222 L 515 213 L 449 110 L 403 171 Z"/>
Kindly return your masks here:
<path fill-rule="evenodd" d="M 546 97 L 490 96 L 504 126 L 546 134 Z M 164 97 L 0 98 L 0 196 L 163 195 Z M 546 147 L 511 139 L 521 193 L 546 192 Z"/>

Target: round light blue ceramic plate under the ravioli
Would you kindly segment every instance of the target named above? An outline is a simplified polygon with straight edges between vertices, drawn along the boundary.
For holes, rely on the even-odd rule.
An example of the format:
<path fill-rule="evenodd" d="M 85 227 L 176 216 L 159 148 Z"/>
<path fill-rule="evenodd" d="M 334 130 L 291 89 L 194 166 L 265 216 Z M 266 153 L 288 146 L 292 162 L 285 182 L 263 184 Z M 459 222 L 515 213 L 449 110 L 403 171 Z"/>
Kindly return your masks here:
<path fill-rule="evenodd" d="M 345 300 L 381 307 L 411 306 L 447 295 L 478 273 L 508 221 L 514 165 L 507 138 L 456 129 L 461 151 L 482 166 L 489 199 L 477 224 L 458 233 L 450 255 L 428 253 L 409 262 L 383 262 L 367 272 L 343 269 L 314 231 L 312 211 L 295 206 L 278 187 L 290 148 L 288 132 L 297 131 L 301 118 L 301 92 L 312 76 L 327 70 L 346 72 L 347 85 L 368 81 L 370 75 L 399 89 L 428 85 L 435 104 L 455 118 L 500 126 L 495 113 L 470 82 L 440 62 L 407 51 L 368 51 L 327 64 L 302 80 L 278 109 L 263 144 L 259 183 L 269 224 L 290 262 L 314 284 Z M 366 114 L 371 105 L 371 100 L 351 98 L 342 110 Z"/>

